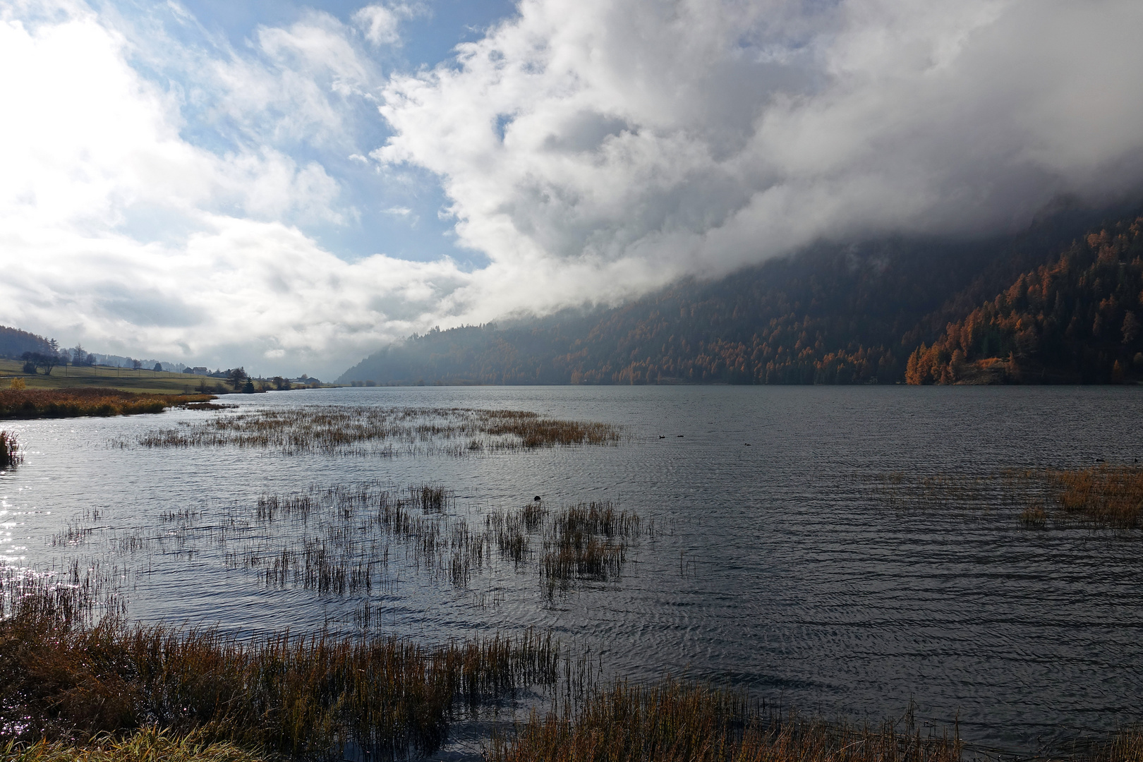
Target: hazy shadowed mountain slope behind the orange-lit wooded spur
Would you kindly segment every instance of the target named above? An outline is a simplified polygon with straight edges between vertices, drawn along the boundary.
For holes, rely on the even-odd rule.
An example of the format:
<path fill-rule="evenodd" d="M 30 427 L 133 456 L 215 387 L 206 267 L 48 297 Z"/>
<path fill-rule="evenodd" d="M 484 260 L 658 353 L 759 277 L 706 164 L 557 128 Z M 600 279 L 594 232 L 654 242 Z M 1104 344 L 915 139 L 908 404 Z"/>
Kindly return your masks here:
<path fill-rule="evenodd" d="M 1057 215 L 1001 240 L 820 246 L 613 310 L 413 336 L 339 382 L 900 382 L 920 344 L 928 352 L 946 324 L 1056 259 L 1087 224 Z"/>

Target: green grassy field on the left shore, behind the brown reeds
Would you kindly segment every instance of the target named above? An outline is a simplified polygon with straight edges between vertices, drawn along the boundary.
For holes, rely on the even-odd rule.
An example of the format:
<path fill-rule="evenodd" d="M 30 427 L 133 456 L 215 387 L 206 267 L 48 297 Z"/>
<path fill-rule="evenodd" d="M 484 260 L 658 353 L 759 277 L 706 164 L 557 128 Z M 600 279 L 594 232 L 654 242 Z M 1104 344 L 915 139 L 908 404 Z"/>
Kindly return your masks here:
<path fill-rule="evenodd" d="M 26 374 L 22 361 L 0 359 L 0 388 L 8 388 L 10 380 L 17 377 L 22 378 L 29 388 L 88 386 L 146 394 L 190 394 L 200 391 L 203 385 L 209 392 L 216 391 L 215 387 L 218 385 L 230 390 L 223 378 L 107 366 L 57 366 L 48 376 Z"/>

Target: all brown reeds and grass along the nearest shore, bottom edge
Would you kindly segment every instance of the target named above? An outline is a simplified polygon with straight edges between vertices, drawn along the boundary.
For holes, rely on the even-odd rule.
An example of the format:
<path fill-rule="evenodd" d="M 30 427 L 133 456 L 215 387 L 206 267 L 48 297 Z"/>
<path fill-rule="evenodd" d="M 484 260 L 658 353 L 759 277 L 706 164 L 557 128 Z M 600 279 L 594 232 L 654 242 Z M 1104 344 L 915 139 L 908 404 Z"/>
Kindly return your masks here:
<path fill-rule="evenodd" d="M 209 628 L 96 620 L 71 587 L 41 581 L 8 593 L 0 613 L 6 762 L 416 756 L 439 749 L 453 722 L 498 714 L 529 688 L 544 691 L 549 709 L 533 708 L 509 730 L 501 723 L 486 760 L 958 762 L 968 751 L 956 727 L 922 731 L 911 711 L 855 725 L 693 681 L 594 683 L 590 659 L 575 659 L 576 672 L 550 633 L 530 629 L 435 647 L 288 632 L 240 642 Z M 1066 759 L 1137 762 L 1143 733 L 1129 728 Z"/>

